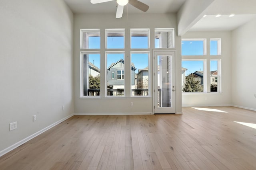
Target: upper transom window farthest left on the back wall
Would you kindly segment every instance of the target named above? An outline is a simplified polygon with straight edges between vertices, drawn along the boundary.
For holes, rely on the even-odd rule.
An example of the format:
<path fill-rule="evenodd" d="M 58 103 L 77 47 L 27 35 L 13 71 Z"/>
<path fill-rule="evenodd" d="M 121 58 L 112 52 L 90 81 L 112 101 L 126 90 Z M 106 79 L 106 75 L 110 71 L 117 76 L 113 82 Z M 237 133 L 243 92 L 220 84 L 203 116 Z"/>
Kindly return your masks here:
<path fill-rule="evenodd" d="M 80 29 L 80 49 L 100 49 L 100 29 Z"/>

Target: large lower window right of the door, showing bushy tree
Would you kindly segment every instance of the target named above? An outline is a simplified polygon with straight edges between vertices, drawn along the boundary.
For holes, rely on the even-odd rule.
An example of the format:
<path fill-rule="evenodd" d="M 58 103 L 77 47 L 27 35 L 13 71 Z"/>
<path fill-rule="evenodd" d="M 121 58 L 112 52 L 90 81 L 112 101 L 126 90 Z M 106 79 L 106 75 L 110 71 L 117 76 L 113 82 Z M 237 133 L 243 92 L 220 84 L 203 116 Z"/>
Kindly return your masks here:
<path fill-rule="evenodd" d="M 204 60 L 182 60 L 182 91 L 204 92 Z"/>

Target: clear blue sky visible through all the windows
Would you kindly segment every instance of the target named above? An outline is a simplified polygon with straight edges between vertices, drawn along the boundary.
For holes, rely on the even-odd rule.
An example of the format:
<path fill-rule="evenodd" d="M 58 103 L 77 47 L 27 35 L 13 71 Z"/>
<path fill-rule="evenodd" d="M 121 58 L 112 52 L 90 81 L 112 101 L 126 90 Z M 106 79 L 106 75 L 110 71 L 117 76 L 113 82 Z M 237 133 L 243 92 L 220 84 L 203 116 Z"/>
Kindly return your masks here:
<path fill-rule="evenodd" d="M 182 41 L 182 55 L 203 55 L 203 41 Z M 218 41 L 210 41 L 210 55 L 217 55 Z M 132 37 L 131 48 L 148 48 L 148 37 Z M 159 47 L 159 39 L 155 39 L 155 48 Z M 108 37 L 107 48 L 109 49 L 124 49 L 124 37 Z M 89 49 L 100 49 L 100 37 L 89 37 Z M 124 54 L 108 54 L 107 67 L 118 60 L 124 59 Z M 100 68 L 100 54 L 90 54 L 89 61 Z M 148 54 L 132 53 L 131 61 L 135 67 L 142 69 L 148 66 Z M 127 61 L 126 61 L 127 62 Z M 195 71 L 204 70 L 203 61 L 182 61 L 182 67 L 187 68 L 186 75 Z M 217 70 L 218 62 L 210 61 L 210 70 Z"/>

